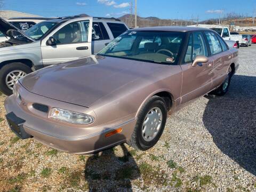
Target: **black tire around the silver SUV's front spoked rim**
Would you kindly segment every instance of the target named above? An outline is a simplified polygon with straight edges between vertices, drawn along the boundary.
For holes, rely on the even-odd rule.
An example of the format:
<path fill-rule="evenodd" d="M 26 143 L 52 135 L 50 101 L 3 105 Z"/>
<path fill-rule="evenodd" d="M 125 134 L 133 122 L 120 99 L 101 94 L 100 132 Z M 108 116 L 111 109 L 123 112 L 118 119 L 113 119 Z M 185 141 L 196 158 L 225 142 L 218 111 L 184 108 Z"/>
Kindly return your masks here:
<path fill-rule="evenodd" d="M 14 70 L 21 70 L 24 71 L 26 74 L 32 72 L 31 68 L 25 65 L 24 63 L 20 62 L 13 62 L 6 64 L 0 69 L 0 91 L 6 95 L 11 95 L 12 90 L 9 89 L 5 83 L 6 76 Z"/>

